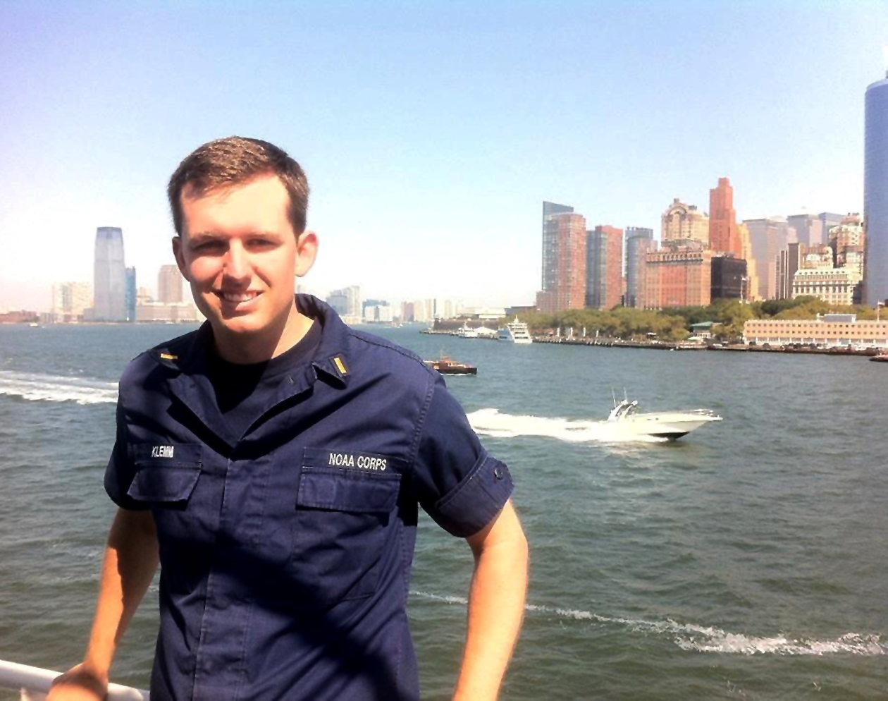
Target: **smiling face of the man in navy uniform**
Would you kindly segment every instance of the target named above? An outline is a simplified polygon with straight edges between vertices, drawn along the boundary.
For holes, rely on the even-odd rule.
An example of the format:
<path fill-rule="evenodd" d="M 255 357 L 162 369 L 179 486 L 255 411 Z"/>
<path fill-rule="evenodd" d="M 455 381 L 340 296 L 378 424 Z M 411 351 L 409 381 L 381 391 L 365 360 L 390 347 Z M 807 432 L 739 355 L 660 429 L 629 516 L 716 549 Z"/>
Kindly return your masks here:
<path fill-rule="evenodd" d="M 314 235 L 297 240 L 281 180 L 259 176 L 201 196 L 186 187 L 181 197 L 173 252 L 217 342 L 280 336 L 296 314 L 294 277 L 314 260 Z"/>

